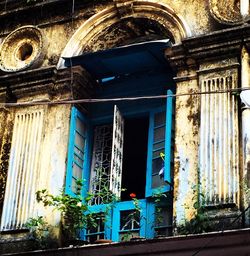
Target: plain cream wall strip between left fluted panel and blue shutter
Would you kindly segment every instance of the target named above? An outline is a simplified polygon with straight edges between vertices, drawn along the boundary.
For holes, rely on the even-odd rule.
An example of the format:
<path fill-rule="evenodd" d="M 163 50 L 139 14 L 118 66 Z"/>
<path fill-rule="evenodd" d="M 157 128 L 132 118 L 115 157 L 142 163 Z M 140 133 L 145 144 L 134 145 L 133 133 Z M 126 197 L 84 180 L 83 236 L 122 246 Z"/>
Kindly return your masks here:
<path fill-rule="evenodd" d="M 47 188 L 52 194 L 59 194 L 65 185 L 67 149 L 69 139 L 70 105 L 48 107 L 44 130 L 41 171 L 43 178 L 38 189 Z M 38 210 L 40 216 L 46 216 L 48 223 L 59 226 L 60 215 L 50 207 Z"/>

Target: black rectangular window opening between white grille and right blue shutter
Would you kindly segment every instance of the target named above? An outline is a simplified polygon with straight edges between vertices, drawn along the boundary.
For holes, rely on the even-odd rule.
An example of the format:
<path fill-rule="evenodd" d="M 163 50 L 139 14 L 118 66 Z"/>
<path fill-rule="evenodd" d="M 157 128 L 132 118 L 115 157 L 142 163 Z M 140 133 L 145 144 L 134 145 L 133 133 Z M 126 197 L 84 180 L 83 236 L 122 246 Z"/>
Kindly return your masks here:
<path fill-rule="evenodd" d="M 148 117 L 126 119 L 124 129 L 121 200 L 130 200 L 130 193 L 145 198 L 148 147 Z"/>

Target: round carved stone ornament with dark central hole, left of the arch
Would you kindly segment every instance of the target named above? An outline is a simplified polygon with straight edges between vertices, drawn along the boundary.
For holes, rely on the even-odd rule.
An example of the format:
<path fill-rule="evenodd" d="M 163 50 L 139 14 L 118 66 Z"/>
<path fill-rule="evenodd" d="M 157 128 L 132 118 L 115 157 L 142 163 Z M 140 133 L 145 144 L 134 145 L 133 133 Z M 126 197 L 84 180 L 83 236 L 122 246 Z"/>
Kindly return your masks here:
<path fill-rule="evenodd" d="M 0 46 L 0 69 L 16 72 L 38 67 L 45 55 L 42 33 L 34 26 L 24 26 L 10 33 Z"/>

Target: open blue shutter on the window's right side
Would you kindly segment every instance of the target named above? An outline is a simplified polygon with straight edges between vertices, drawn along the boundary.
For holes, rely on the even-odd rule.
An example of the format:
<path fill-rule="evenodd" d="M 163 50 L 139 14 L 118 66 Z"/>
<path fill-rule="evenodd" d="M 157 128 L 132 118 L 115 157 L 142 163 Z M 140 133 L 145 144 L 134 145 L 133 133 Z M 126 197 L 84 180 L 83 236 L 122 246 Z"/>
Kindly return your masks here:
<path fill-rule="evenodd" d="M 167 91 L 172 95 L 172 91 Z M 155 192 L 167 192 L 171 187 L 173 154 L 173 99 L 168 97 L 166 108 L 154 109 L 149 117 L 146 197 Z M 159 191 L 160 190 L 160 191 Z"/>

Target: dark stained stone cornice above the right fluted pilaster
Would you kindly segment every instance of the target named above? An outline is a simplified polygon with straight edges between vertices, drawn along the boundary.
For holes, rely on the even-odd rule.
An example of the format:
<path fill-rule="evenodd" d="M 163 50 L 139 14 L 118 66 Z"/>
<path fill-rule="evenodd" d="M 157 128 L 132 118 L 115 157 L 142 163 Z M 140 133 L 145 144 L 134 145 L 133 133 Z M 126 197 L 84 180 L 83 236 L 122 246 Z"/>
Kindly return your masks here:
<path fill-rule="evenodd" d="M 199 63 L 239 57 L 242 46 L 250 49 L 250 24 L 187 38 L 166 50 L 174 69 L 195 68 Z"/>

